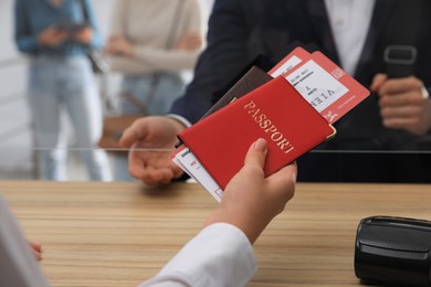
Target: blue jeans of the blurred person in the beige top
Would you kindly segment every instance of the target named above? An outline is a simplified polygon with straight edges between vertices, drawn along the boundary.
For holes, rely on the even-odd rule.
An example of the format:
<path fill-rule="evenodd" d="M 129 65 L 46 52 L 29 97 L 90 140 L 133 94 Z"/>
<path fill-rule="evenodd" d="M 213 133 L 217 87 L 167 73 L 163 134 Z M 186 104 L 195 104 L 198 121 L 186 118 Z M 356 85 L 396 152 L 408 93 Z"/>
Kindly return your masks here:
<path fill-rule="evenodd" d="M 156 85 L 155 85 L 156 84 Z M 164 115 L 170 110 L 174 102 L 183 93 L 186 83 L 176 73 L 156 73 L 126 75 L 122 92 L 132 94 L 146 108 L 147 115 Z M 120 114 L 143 114 L 141 108 L 124 97 L 119 98 Z M 133 181 L 128 174 L 128 159 L 124 155 L 113 156 L 114 179 Z"/>

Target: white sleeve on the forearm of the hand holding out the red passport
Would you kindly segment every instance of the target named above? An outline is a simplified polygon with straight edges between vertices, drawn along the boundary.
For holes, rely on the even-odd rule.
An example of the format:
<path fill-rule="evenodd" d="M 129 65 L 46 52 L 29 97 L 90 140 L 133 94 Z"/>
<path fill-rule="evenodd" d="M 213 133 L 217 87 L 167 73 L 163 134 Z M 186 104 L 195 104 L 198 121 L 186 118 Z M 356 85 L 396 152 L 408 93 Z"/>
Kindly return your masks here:
<path fill-rule="evenodd" d="M 214 223 L 140 287 L 245 286 L 255 270 L 253 247 L 245 234 L 231 224 Z"/>

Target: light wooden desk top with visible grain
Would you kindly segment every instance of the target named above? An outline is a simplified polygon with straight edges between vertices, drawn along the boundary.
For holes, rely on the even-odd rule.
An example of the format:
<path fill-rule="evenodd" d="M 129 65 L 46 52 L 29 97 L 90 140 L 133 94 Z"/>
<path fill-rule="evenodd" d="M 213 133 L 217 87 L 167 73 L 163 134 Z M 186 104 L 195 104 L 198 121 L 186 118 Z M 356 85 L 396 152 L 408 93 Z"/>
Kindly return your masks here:
<path fill-rule="evenodd" d="M 201 227 L 217 202 L 197 184 L 0 182 L 53 286 L 137 286 Z M 250 286 L 359 286 L 354 242 L 369 215 L 431 219 L 430 185 L 297 184 L 255 244 Z"/>

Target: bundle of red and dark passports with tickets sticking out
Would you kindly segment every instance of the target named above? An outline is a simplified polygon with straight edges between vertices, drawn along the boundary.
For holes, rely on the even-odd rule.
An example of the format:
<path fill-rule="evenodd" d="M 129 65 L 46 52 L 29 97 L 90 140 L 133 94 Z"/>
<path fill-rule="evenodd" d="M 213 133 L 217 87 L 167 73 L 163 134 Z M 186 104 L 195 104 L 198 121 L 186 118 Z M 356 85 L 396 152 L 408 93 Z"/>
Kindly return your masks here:
<path fill-rule="evenodd" d="M 267 177 L 333 137 L 332 124 L 368 95 L 320 52 L 297 47 L 269 74 L 252 67 L 178 135 L 171 159 L 220 201 L 251 142 L 267 141 Z"/>

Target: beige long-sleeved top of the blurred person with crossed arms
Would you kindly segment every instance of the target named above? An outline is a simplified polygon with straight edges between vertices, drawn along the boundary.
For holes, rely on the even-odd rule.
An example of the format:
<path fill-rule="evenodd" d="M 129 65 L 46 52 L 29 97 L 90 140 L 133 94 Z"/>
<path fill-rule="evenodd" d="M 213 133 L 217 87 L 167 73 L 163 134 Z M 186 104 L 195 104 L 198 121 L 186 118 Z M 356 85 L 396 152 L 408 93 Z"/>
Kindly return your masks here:
<path fill-rule="evenodd" d="M 199 0 L 119 0 L 111 34 L 135 43 L 136 56 L 111 56 L 112 70 L 125 74 L 192 70 L 202 49 L 172 46 L 183 34 L 202 35 L 201 21 Z"/>

